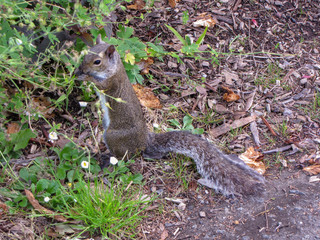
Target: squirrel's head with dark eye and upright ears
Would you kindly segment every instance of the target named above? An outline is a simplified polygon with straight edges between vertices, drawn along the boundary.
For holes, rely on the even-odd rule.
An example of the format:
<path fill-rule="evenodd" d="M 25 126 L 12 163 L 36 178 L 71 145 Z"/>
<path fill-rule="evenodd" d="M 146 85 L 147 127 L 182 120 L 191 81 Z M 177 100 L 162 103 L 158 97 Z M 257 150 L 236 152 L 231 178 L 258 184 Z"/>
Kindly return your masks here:
<path fill-rule="evenodd" d="M 89 49 L 83 62 L 75 71 L 78 80 L 91 81 L 101 89 L 108 89 L 110 80 L 119 73 L 121 59 L 113 45 L 101 40 L 99 35 L 96 45 Z"/>

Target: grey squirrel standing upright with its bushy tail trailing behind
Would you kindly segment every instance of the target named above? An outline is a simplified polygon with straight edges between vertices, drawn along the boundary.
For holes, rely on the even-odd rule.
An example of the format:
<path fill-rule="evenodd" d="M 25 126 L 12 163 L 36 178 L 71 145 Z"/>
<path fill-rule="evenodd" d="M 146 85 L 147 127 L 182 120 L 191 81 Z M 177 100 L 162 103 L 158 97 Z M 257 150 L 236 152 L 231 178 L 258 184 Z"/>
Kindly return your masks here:
<path fill-rule="evenodd" d="M 120 56 L 100 35 L 96 45 L 84 56 L 76 76 L 78 80 L 95 83 L 101 90 L 98 94 L 105 111 L 104 140 L 111 154 L 121 158 L 127 151 L 132 154 L 140 150 L 144 157 L 160 159 L 169 152 L 179 153 L 195 161 L 203 177 L 199 183 L 225 196 L 254 195 L 264 190 L 263 176 L 198 135 L 187 131 L 149 133 Z M 117 101 L 119 98 L 124 102 Z"/>

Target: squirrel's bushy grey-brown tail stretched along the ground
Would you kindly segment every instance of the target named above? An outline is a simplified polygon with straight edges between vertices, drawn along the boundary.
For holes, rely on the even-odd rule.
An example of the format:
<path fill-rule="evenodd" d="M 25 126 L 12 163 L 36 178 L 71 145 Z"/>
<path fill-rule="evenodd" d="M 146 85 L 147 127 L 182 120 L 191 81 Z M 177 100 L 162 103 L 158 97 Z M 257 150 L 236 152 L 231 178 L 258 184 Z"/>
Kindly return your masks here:
<path fill-rule="evenodd" d="M 200 183 L 226 196 L 259 195 L 264 178 L 238 157 L 223 154 L 217 147 L 198 135 L 186 131 L 149 134 L 144 156 L 159 159 L 169 152 L 193 158 L 204 179 Z"/>

